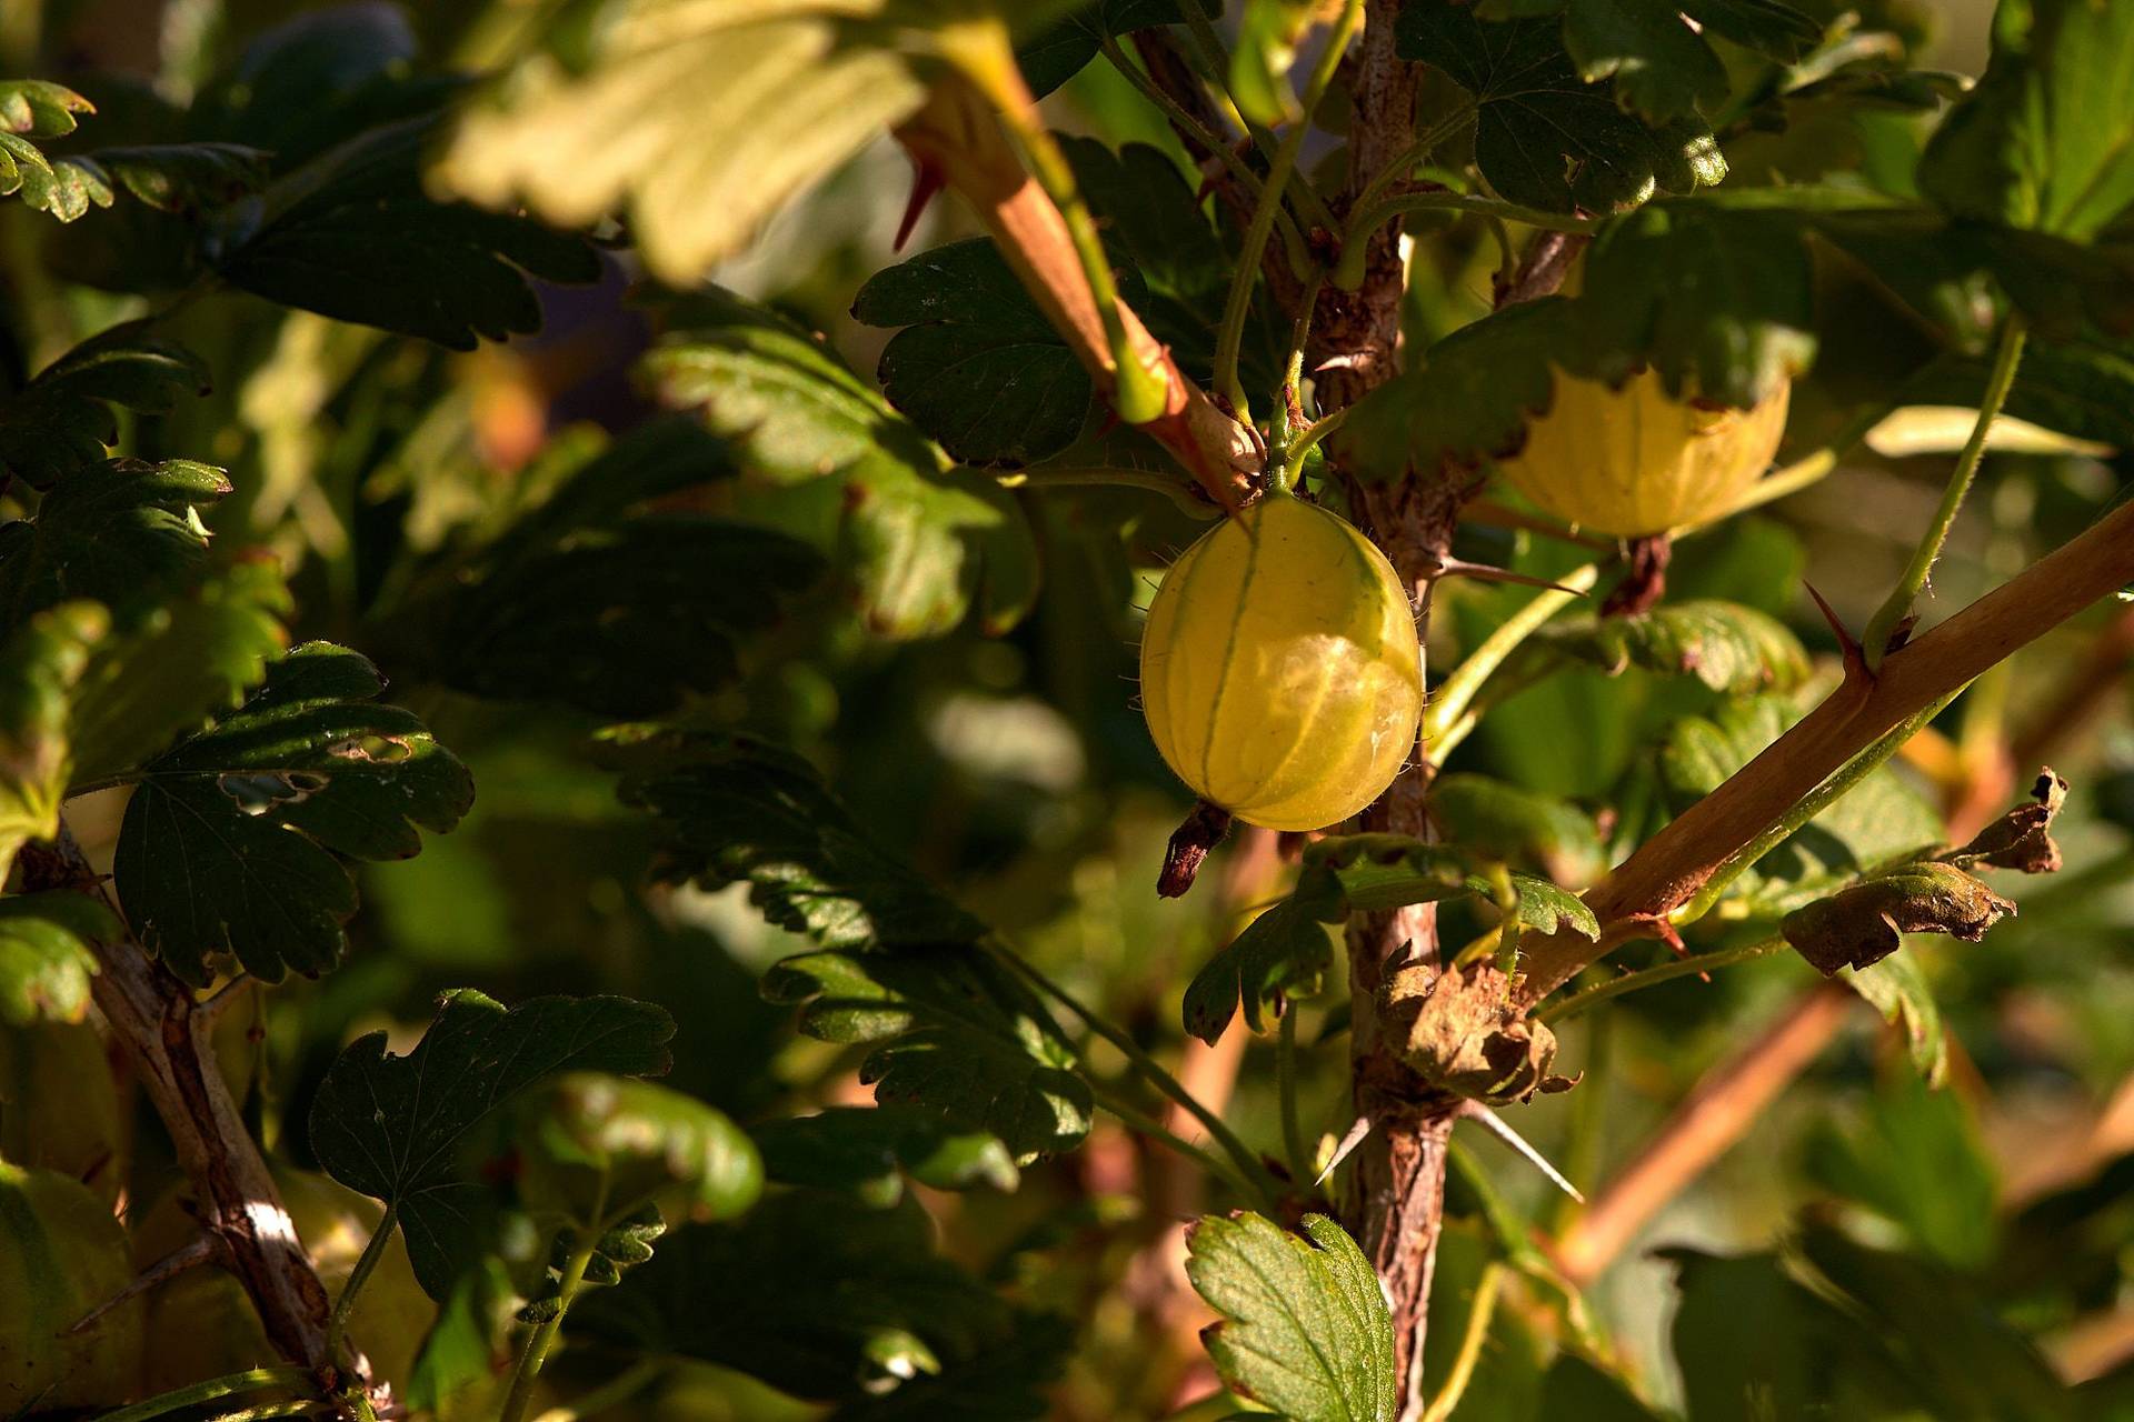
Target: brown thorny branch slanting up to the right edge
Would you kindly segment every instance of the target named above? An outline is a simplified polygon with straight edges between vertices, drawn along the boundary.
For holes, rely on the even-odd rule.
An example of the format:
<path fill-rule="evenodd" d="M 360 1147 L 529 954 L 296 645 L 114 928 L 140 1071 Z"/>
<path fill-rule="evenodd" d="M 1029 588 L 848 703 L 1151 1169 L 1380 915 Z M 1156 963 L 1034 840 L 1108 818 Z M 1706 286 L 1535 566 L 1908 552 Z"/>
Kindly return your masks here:
<path fill-rule="evenodd" d="M 1799 725 L 1639 846 L 1586 898 L 1607 927 L 1598 944 L 1568 932 L 1532 940 L 1519 1002 L 1532 1006 L 1611 947 L 1650 932 L 1637 925 L 1662 921 L 1729 855 L 1906 716 L 2128 582 L 2134 582 L 2134 505 L 2113 510 L 2081 537 L 1891 652 L 1878 674 L 1848 676 Z"/>

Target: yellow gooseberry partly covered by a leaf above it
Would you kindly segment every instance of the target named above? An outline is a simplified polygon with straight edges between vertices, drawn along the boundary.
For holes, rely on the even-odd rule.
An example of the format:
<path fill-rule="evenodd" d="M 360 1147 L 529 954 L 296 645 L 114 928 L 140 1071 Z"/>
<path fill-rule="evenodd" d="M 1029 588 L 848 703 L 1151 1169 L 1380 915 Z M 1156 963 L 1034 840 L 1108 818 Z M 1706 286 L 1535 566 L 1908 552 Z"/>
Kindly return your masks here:
<path fill-rule="evenodd" d="M 1547 414 L 1498 469 L 1558 518 L 1611 537 L 1709 522 L 1771 465 L 1788 392 L 1724 409 L 1669 394 L 1650 369 L 1620 390 L 1558 371 Z"/>

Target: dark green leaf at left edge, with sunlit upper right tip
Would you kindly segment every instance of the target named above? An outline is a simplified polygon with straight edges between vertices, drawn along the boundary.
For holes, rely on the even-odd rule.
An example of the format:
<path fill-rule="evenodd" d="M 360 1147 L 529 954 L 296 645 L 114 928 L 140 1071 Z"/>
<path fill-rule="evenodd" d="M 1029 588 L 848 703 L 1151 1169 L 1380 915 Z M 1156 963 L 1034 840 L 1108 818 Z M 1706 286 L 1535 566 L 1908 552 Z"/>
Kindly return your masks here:
<path fill-rule="evenodd" d="M 128 610 L 184 586 L 207 556 L 201 510 L 228 492 L 220 469 L 190 458 L 77 469 L 34 520 L 0 524 L 0 625 L 70 597 Z"/>

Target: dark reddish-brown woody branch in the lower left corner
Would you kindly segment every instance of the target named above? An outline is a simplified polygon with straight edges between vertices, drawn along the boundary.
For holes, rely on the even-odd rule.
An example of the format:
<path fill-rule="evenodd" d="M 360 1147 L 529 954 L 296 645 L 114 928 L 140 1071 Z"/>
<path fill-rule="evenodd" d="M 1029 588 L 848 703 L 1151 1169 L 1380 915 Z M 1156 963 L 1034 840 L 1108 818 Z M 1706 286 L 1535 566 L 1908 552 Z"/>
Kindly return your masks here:
<path fill-rule="evenodd" d="M 77 889 L 102 900 L 117 917 L 117 906 L 64 825 L 53 844 L 26 846 L 21 866 L 26 889 Z M 98 966 L 96 1006 L 171 1134 L 177 1162 L 198 1194 L 201 1226 L 252 1296 L 275 1352 L 333 1386 L 337 1369 L 327 1352 L 327 1290 L 222 1081 L 209 1019 L 192 991 L 139 944 L 122 938 L 90 947 Z"/>

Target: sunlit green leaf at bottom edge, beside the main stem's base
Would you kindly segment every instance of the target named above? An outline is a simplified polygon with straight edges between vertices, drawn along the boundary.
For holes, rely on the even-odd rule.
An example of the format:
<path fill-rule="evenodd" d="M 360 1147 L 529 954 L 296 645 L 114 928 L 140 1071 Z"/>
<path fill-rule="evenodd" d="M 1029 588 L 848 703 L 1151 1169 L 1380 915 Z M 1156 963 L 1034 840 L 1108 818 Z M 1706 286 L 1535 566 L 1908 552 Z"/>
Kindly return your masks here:
<path fill-rule="evenodd" d="M 1201 1330 L 1223 1381 L 1295 1422 L 1391 1422 L 1394 1318 L 1338 1224 L 1302 1234 L 1238 1213 L 1187 1232 L 1187 1277 L 1223 1322 Z"/>

